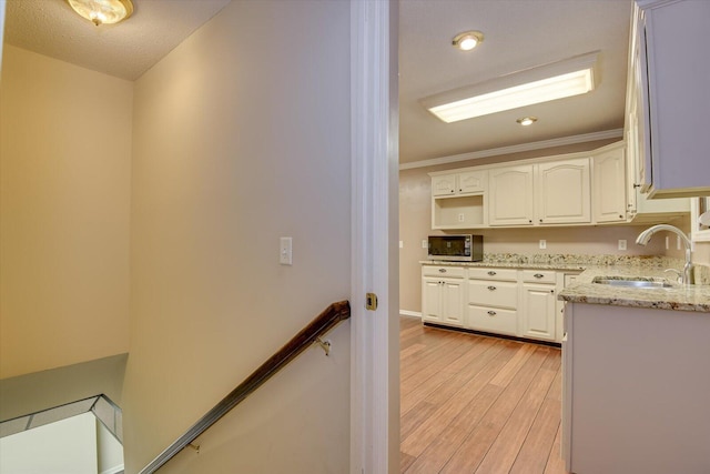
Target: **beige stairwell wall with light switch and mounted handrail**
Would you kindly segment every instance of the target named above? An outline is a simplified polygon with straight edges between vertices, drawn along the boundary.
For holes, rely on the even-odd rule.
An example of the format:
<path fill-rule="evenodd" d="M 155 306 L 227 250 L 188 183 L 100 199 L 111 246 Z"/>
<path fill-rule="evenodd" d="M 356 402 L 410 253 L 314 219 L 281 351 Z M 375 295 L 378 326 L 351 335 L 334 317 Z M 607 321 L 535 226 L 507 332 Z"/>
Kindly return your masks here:
<path fill-rule="evenodd" d="M 232 2 L 135 82 L 126 473 L 348 297 L 348 31 L 347 2 Z M 171 472 L 347 472 L 349 324 L 328 339 Z"/>

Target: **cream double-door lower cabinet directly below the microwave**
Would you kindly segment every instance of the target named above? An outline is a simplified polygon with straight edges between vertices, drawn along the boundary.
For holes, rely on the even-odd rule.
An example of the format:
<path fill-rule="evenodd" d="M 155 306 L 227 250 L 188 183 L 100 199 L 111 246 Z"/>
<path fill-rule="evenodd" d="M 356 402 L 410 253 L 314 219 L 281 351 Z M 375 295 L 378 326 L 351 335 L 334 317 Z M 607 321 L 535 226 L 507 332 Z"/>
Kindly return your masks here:
<path fill-rule="evenodd" d="M 463 268 L 425 265 L 422 270 L 422 319 L 463 326 L 464 283 Z"/>

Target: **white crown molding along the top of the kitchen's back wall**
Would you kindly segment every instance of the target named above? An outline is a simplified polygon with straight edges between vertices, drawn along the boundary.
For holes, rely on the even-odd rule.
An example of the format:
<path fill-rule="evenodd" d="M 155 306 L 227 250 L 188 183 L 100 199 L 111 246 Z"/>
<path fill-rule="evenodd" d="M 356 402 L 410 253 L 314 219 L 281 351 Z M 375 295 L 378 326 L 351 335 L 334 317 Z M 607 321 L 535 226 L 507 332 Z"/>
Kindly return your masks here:
<path fill-rule="evenodd" d="M 617 139 L 623 137 L 623 129 L 606 130 L 604 132 L 585 133 L 581 135 L 564 137 L 559 139 L 542 140 L 539 142 L 514 144 L 510 147 L 493 148 L 490 150 L 474 151 L 469 153 L 453 154 L 449 157 L 432 158 L 429 160 L 400 163 L 399 171 L 416 168 L 437 167 L 439 164 L 457 163 L 459 161 L 478 160 L 481 158 L 499 157 L 501 154 L 520 153 L 525 151 L 542 150 L 546 148 L 565 147 L 569 144 L 594 142 L 598 140 Z"/>

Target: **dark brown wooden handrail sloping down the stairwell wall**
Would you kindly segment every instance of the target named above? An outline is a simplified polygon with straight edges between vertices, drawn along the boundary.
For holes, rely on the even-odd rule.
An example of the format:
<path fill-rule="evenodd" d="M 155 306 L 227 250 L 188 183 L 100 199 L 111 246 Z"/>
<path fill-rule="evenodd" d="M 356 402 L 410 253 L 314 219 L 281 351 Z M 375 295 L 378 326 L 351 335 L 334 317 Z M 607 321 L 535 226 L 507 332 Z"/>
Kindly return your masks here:
<path fill-rule="evenodd" d="M 298 334 L 286 343 L 278 352 L 272 355 L 258 369 L 256 369 L 244 382 L 230 392 L 220 403 L 202 416 L 183 435 L 160 453 L 153 461 L 143 467 L 140 474 L 152 474 L 162 465 L 175 456 L 183 447 L 191 444 L 197 436 L 207 431 L 230 410 L 239 405 L 244 399 L 262 386 L 268 379 L 296 359 L 298 354 L 308 349 L 321 335 L 331 331 L 342 321 L 351 316 L 351 304 L 339 301 L 331 304 L 318 316 L 308 323 Z"/>

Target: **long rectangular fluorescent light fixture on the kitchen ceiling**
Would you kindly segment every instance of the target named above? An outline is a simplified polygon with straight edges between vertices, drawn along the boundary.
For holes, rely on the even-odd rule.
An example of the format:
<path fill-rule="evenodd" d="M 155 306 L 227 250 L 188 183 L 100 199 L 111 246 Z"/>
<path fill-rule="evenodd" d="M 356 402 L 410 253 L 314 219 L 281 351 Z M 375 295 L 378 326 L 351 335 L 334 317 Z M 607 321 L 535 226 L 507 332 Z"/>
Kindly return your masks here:
<path fill-rule="evenodd" d="M 598 52 L 501 75 L 422 99 L 446 123 L 590 92 Z"/>

